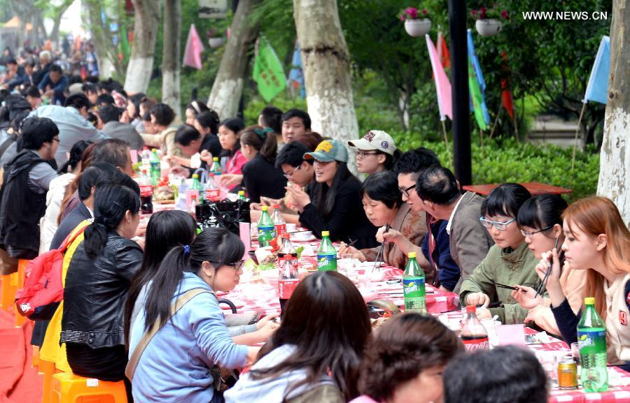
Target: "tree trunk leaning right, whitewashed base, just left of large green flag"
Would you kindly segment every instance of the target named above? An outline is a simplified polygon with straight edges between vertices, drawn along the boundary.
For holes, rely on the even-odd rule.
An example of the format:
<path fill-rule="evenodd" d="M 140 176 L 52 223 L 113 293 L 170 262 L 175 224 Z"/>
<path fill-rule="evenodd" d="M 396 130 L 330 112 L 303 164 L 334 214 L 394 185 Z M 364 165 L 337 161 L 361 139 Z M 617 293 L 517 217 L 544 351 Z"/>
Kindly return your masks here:
<path fill-rule="evenodd" d="M 249 65 L 248 49 L 258 36 L 258 25 L 247 18 L 260 0 L 239 0 L 239 6 L 230 27 L 230 38 L 212 85 L 208 106 L 216 110 L 221 119 L 235 117 L 243 94 Z"/>

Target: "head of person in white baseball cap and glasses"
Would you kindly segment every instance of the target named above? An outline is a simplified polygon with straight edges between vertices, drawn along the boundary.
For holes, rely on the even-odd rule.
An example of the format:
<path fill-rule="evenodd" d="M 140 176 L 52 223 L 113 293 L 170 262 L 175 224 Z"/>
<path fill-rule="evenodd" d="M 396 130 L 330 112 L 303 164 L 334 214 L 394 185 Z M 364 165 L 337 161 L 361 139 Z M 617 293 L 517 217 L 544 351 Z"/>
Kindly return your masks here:
<path fill-rule="evenodd" d="M 348 145 L 356 147 L 357 172 L 367 175 L 391 170 L 402 155 L 391 135 L 380 130 L 370 130 L 363 138 L 349 141 Z"/>

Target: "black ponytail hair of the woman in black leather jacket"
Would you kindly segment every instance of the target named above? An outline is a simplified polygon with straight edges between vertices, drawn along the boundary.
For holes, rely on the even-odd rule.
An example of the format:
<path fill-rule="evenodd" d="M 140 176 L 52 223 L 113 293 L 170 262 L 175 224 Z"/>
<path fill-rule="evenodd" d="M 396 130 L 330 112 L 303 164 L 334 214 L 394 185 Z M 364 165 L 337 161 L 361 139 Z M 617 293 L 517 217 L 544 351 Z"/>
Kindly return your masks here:
<path fill-rule="evenodd" d="M 116 229 L 128 211 L 138 214 L 140 199 L 127 186 L 104 184 L 94 191 L 94 223 L 85 228 L 83 248 L 90 258 L 102 254 L 107 233 Z"/>

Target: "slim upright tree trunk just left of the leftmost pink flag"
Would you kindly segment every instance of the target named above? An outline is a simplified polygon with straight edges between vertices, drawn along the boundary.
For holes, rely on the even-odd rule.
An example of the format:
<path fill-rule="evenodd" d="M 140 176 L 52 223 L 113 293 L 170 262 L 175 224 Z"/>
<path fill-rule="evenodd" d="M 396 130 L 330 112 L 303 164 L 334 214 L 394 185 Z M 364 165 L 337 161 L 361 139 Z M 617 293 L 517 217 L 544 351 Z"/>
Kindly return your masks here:
<path fill-rule="evenodd" d="M 181 0 L 164 2 L 164 47 L 162 55 L 162 102 L 181 115 L 179 70 L 181 65 Z"/>

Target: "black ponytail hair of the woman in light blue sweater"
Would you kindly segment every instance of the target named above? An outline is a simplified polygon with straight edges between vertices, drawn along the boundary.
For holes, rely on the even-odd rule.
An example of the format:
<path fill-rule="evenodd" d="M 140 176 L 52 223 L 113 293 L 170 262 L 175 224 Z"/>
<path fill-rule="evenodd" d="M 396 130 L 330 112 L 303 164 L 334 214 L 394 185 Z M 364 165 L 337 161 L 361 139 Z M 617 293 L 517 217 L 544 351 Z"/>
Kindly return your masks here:
<path fill-rule="evenodd" d="M 160 324 L 169 319 L 171 302 L 179 295 L 184 273 L 199 275 L 204 262 L 219 270 L 224 265 L 241 261 L 244 253 L 241 239 L 225 228 L 207 228 L 190 245 L 173 247 L 153 276 L 144 305 L 145 330 L 150 330 L 158 319 Z"/>

